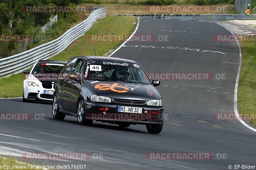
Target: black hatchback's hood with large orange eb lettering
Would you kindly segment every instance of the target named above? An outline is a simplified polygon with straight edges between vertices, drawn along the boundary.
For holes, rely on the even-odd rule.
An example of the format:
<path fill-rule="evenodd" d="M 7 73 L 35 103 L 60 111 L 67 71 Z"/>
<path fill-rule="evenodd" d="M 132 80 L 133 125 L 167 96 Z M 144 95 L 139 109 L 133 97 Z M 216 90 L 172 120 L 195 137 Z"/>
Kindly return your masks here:
<path fill-rule="evenodd" d="M 86 80 L 86 82 L 99 96 L 116 99 L 159 100 L 159 94 L 153 85 L 93 80 Z"/>

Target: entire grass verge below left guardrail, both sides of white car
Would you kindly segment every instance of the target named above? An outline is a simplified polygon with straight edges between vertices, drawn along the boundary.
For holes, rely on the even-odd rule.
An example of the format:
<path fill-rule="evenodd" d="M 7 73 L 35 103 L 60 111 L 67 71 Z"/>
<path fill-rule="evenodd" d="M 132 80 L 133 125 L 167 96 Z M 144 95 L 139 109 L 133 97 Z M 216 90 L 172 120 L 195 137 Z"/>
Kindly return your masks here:
<path fill-rule="evenodd" d="M 84 36 L 73 42 L 67 49 L 49 60 L 68 61 L 71 57 L 78 55 L 103 55 L 120 44 L 117 41 L 88 40 L 89 35 L 129 35 L 133 32 L 137 18 L 107 15 L 96 21 L 92 28 Z M 23 80 L 25 75 L 20 73 L 8 78 L 0 79 L 0 98 L 22 97 Z"/>

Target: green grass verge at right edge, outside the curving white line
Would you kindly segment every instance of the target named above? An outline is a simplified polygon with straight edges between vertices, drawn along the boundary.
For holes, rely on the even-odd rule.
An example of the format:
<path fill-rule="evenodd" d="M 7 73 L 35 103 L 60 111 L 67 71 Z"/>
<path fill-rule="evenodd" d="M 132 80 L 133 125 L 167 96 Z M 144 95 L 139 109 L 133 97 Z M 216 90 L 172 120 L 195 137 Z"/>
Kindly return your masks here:
<path fill-rule="evenodd" d="M 256 42 L 243 42 L 243 64 L 238 86 L 238 106 L 242 114 L 256 114 Z M 256 120 L 249 120 L 256 126 Z"/>

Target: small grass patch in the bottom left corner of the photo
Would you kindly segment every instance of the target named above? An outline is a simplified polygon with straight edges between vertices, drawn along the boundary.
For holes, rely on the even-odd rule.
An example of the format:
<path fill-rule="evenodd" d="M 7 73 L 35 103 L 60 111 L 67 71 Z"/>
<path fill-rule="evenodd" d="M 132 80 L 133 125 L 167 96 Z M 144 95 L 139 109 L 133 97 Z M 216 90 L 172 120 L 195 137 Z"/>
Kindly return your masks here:
<path fill-rule="evenodd" d="M 23 163 L 23 162 L 16 161 L 10 158 L 5 158 L 5 157 L 0 157 L 0 165 L 3 166 L 3 168 L 0 167 L 0 170 L 11 169 L 12 166 L 14 166 L 12 170 L 25 170 L 25 169 L 30 169 L 29 167 L 33 167 L 33 165 L 27 164 L 25 162 Z M 36 169 L 36 167 L 32 169 L 39 170 L 39 169 Z"/>

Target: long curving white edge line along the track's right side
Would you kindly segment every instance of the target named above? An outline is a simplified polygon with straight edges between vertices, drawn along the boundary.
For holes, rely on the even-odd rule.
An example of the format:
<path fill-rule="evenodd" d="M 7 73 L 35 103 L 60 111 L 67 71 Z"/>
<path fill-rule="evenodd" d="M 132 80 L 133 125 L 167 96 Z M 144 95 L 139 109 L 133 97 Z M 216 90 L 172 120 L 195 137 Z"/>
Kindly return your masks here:
<path fill-rule="evenodd" d="M 228 28 L 226 28 L 230 33 L 232 33 Z M 234 33 L 232 33 L 232 35 L 236 38 L 236 35 Z M 237 40 L 237 38 L 236 38 Z M 236 76 L 236 85 L 235 85 L 235 90 L 234 90 L 234 111 L 236 114 L 236 118 L 246 127 L 249 128 L 251 130 L 253 130 L 254 132 L 256 132 L 256 129 L 252 128 L 251 126 L 249 126 L 247 123 L 245 123 L 239 113 L 238 113 L 238 109 L 237 109 L 237 91 L 238 91 L 238 81 L 239 81 L 239 77 L 240 77 L 240 72 L 241 72 L 241 66 L 242 66 L 242 49 L 240 46 L 239 41 L 236 41 L 238 47 L 239 47 L 239 58 L 240 58 L 240 62 L 239 62 L 239 67 L 238 67 L 238 71 L 237 71 L 237 76 Z"/>

